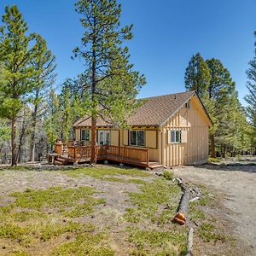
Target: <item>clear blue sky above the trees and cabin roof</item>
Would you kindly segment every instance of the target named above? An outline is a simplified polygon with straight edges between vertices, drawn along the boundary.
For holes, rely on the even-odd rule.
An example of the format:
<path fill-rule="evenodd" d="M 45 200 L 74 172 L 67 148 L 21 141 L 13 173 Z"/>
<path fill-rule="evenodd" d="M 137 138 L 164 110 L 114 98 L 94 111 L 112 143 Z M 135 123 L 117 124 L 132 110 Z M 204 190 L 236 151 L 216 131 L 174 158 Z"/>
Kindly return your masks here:
<path fill-rule="evenodd" d="M 72 61 L 83 29 L 74 11 L 74 0 L 1 0 L 16 4 L 30 32 L 40 33 L 57 58 L 57 84 L 83 71 Z M 184 71 L 191 55 L 218 58 L 230 69 L 241 102 L 247 93 L 247 62 L 253 58 L 256 30 L 255 0 L 119 0 L 123 24 L 134 24 L 128 46 L 131 62 L 147 79 L 140 96 L 184 90 Z"/>

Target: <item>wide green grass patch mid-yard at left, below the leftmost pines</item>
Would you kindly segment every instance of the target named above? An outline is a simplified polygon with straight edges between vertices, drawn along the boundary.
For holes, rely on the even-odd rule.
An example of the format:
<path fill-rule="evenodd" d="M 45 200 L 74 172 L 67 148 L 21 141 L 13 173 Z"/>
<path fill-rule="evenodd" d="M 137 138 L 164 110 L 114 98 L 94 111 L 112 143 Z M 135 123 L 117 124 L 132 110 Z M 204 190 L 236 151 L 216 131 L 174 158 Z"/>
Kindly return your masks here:
<path fill-rule="evenodd" d="M 16 197 L 16 207 L 35 210 L 43 210 L 46 207 L 56 209 L 67 217 L 79 217 L 93 212 L 93 206 L 104 202 L 103 199 L 93 197 L 94 193 L 95 190 L 90 187 L 55 187 L 44 190 L 26 189 L 24 193 L 15 192 L 11 195 Z"/>

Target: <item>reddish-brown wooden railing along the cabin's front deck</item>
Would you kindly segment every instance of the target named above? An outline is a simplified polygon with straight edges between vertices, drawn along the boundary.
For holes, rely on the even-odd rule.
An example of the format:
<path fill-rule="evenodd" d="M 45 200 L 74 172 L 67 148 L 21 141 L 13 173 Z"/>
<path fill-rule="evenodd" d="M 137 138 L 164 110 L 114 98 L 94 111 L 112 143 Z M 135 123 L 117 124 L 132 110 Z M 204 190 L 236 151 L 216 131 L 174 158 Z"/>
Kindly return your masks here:
<path fill-rule="evenodd" d="M 89 159 L 91 156 L 90 146 L 68 146 L 68 156 L 75 161 Z M 130 160 L 131 162 L 149 163 L 148 148 L 127 148 L 118 146 L 96 146 L 97 158 L 108 160 Z"/>

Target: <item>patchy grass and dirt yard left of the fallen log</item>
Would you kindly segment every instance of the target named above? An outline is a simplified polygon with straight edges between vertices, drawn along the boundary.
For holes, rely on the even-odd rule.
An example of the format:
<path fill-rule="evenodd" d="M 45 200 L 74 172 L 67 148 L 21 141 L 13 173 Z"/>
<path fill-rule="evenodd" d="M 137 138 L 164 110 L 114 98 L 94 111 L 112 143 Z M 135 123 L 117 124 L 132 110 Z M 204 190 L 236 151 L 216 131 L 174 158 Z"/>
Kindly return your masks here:
<path fill-rule="evenodd" d="M 151 172 L 98 166 L 2 168 L 0 254 L 180 255 L 177 184 Z"/>

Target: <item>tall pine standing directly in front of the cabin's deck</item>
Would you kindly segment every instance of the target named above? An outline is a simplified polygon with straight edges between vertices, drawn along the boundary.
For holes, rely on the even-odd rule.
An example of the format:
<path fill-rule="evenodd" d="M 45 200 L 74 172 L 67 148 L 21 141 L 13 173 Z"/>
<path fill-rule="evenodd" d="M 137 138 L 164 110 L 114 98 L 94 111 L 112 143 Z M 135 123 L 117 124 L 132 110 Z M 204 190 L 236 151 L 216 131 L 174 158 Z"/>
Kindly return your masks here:
<path fill-rule="evenodd" d="M 126 113 L 131 113 L 136 105 L 134 98 L 145 81 L 143 76 L 132 71 L 128 49 L 122 47 L 124 40 L 132 38 L 132 26 L 120 27 L 120 4 L 116 0 L 79 0 L 76 11 L 82 15 L 80 21 L 84 36 L 83 46 L 73 52 L 75 57 L 80 56 L 84 60 L 86 68 L 84 99 L 91 117 L 90 162 L 95 164 L 97 118 L 105 119 L 104 114 L 108 113 L 108 117 L 111 115 L 115 119 L 116 108 L 126 108 Z M 123 87 L 123 94 L 127 96 L 119 98 Z M 110 102 L 109 97 L 118 101 Z"/>

